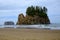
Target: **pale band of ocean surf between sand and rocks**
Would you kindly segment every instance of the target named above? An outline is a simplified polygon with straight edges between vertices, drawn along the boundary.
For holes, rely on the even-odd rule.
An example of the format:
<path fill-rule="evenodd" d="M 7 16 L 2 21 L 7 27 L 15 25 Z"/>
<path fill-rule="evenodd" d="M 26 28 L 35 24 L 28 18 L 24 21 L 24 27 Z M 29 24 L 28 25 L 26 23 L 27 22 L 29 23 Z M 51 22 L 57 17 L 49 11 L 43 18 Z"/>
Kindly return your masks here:
<path fill-rule="evenodd" d="M 0 28 L 37 28 L 37 29 L 51 29 L 60 30 L 60 24 L 36 24 L 36 25 L 0 25 Z"/>

